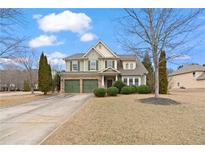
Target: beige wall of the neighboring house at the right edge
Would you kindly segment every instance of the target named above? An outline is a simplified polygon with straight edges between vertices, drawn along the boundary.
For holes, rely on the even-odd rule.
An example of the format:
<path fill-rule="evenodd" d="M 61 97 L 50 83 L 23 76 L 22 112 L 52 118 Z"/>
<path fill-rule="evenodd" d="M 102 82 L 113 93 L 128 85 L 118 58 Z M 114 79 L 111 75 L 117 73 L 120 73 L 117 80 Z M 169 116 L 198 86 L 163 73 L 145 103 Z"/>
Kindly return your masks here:
<path fill-rule="evenodd" d="M 205 88 L 205 80 L 196 80 L 202 72 L 196 72 L 195 77 L 193 73 L 179 74 L 168 78 L 169 89 L 185 88 Z M 178 86 L 179 83 L 179 86 Z"/>

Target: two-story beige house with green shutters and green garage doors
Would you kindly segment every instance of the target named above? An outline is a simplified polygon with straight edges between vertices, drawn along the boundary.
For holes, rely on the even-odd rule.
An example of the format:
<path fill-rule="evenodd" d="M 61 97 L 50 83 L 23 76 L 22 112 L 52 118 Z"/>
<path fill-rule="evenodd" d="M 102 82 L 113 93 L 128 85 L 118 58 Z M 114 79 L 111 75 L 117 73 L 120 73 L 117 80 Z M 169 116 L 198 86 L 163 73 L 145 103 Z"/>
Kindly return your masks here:
<path fill-rule="evenodd" d="M 117 55 L 102 41 L 86 53 L 64 58 L 66 71 L 61 75 L 61 92 L 89 93 L 96 87 L 111 87 L 121 79 L 127 85 L 145 85 L 144 65 L 134 55 Z"/>

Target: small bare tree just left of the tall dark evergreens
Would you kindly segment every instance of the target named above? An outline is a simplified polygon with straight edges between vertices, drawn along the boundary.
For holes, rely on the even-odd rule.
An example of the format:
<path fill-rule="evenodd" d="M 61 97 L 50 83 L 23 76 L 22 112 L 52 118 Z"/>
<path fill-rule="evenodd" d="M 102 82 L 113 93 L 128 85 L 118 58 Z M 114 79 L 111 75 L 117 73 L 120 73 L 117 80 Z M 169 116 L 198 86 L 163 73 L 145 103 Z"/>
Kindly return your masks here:
<path fill-rule="evenodd" d="M 35 71 L 34 68 L 37 68 L 37 56 L 34 50 L 25 50 L 21 52 L 18 58 L 16 58 L 16 62 L 20 63 L 24 69 L 28 73 L 29 85 L 31 87 L 31 94 L 34 93 L 34 78 L 35 78 Z"/>

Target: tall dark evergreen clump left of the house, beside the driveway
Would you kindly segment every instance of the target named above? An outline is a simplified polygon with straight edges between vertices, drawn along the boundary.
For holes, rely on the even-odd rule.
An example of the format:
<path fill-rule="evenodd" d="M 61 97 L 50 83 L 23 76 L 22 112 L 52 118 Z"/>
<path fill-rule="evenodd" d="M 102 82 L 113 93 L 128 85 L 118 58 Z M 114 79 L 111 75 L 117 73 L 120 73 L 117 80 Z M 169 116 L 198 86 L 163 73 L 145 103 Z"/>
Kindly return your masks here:
<path fill-rule="evenodd" d="M 47 57 L 42 53 L 39 60 L 39 70 L 38 70 L 38 86 L 39 90 L 47 94 L 51 90 L 51 80 L 50 80 L 50 65 L 48 65 Z"/>

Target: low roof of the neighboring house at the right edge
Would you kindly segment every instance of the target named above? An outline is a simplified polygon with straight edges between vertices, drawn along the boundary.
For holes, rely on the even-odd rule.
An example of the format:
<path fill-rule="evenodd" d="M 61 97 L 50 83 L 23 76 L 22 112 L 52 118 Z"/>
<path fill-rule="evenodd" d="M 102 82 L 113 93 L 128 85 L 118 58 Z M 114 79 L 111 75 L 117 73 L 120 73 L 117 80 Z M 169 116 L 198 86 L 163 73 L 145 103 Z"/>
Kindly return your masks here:
<path fill-rule="evenodd" d="M 179 68 L 175 72 L 169 74 L 169 76 L 174 76 L 174 75 L 179 75 L 179 74 L 184 74 L 184 73 L 190 73 L 190 72 L 204 72 L 205 71 L 205 66 L 202 65 L 191 65 L 187 64 L 184 65 L 183 67 Z"/>

